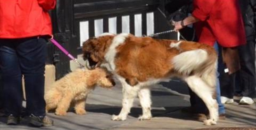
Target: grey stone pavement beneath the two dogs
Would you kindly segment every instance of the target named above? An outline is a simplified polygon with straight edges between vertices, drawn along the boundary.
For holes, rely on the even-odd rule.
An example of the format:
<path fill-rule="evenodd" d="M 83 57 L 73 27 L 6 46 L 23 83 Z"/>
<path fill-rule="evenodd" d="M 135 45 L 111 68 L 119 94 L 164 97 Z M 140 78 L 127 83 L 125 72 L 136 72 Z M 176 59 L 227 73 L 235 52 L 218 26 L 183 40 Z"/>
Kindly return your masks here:
<path fill-rule="evenodd" d="M 55 122 L 53 127 L 33 128 L 22 123 L 17 126 L 5 125 L 6 118 L 0 118 L 0 130 L 194 130 L 200 128 L 246 127 L 256 129 L 256 105 L 251 106 L 226 104 L 227 118 L 217 125 L 206 126 L 196 121 L 191 115 L 180 109 L 189 106 L 187 87 L 179 81 L 172 80 L 154 85 L 152 94 L 152 114 L 149 121 L 138 121 L 141 114 L 139 100 L 135 99 L 134 107 L 126 121 L 111 121 L 112 114 L 121 109 L 122 87 L 120 83 L 106 90 L 97 87 L 88 97 L 87 114 L 78 116 L 70 111 L 67 116 L 48 116 Z M 222 129 L 223 130 L 223 129 Z M 246 129 L 243 129 L 246 130 Z"/>

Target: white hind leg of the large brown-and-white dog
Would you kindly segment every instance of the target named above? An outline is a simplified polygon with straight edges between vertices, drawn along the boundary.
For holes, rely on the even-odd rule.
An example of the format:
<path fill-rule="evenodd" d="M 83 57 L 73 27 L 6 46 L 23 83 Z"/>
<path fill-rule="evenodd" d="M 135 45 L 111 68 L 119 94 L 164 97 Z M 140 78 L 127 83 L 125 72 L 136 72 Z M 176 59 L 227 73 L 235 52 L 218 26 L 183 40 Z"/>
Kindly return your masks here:
<path fill-rule="evenodd" d="M 203 100 L 209 110 L 210 119 L 204 121 L 204 124 L 215 125 L 219 117 L 218 103 L 213 99 L 213 93 L 216 89 L 207 85 L 199 76 L 189 76 L 185 78 L 185 81 L 191 90 Z"/>

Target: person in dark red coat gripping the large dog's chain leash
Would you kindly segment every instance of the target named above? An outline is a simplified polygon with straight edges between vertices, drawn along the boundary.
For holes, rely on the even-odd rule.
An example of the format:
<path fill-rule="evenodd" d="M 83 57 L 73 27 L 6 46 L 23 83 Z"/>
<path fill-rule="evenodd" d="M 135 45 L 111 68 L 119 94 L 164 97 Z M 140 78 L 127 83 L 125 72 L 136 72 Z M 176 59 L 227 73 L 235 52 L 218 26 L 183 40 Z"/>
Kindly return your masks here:
<path fill-rule="evenodd" d="M 199 43 L 213 46 L 218 42 L 223 47 L 223 60 L 227 65 L 228 73 L 236 74 L 240 69 L 237 46 L 246 43 L 238 1 L 193 0 L 191 16 L 174 22 L 174 29 L 179 31 L 189 24 L 194 24 Z M 225 113 L 225 108 L 220 101 L 219 79 L 217 79 L 216 99 L 219 104 L 219 113 Z"/>

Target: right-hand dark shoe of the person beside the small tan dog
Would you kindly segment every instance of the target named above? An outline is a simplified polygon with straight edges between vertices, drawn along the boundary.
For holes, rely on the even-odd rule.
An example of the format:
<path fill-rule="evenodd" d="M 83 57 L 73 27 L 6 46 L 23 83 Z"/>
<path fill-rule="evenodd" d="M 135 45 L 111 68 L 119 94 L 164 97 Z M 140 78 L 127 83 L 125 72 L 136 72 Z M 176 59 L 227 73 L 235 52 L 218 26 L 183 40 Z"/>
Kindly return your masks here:
<path fill-rule="evenodd" d="M 31 114 L 29 116 L 29 124 L 34 127 L 42 127 L 42 126 L 53 126 L 53 120 L 48 118 L 47 116 L 35 116 Z"/>

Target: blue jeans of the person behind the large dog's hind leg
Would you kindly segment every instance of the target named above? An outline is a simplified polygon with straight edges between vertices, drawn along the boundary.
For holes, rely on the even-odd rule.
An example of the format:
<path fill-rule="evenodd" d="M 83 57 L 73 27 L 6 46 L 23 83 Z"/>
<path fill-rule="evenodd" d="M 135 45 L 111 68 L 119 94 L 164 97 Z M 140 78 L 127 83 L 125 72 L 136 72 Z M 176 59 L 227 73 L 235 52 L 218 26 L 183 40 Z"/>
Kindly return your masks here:
<path fill-rule="evenodd" d="M 214 48 L 217 52 L 218 51 L 218 44 L 215 43 L 214 44 Z M 220 80 L 219 80 L 219 72 L 216 72 L 217 75 L 217 83 L 216 83 L 216 100 L 218 102 L 218 106 L 219 106 L 219 114 L 225 113 L 225 106 L 221 103 L 220 101 Z M 203 101 L 194 93 L 189 89 L 189 94 L 190 94 L 190 103 L 191 103 L 191 107 L 196 109 L 196 113 L 201 113 L 201 112 L 206 112 L 207 108 L 206 105 L 203 103 Z"/>

